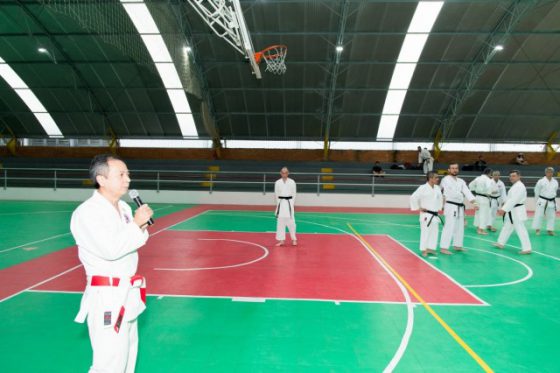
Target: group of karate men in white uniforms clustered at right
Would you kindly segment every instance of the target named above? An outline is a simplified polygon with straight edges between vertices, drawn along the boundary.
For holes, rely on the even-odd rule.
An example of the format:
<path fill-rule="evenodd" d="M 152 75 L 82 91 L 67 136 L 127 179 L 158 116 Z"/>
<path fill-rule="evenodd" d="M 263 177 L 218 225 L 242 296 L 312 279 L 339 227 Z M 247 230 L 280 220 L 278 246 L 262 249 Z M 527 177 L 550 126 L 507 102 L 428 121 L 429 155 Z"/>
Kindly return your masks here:
<path fill-rule="evenodd" d="M 519 254 L 530 254 L 532 246 L 525 227 L 527 189 L 521 181 L 521 173 L 518 170 L 509 173 L 512 186 L 506 194 L 505 185 L 499 180 L 498 171 L 485 170 L 481 176 L 470 183 L 470 188 L 457 176 L 458 172 L 459 165 L 450 164 L 448 175 L 441 181 L 440 188 L 437 185 L 437 174 L 428 172 L 426 184 L 419 186 L 410 197 L 411 210 L 420 212 L 422 255 L 436 254 L 441 209 L 445 222 L 441 234 L 440 253 L 451 255 L 449 251 L 451 245 L 456 251 L 465 251 L 463 247 L 465 199 L 473 204 L 478 214 L 477 232 L 483 231 L 480 234 L 487 234 L 486 229 L 496 231 L 493 222 L 496 216 L 502 216 L 504 224 L 494 246 L 503 249 L 515 230 L 521 242 Z M 548 234 L 554 235 L 558 182 L 552 177 L 553 173 L 554 169 L 547 167 L 545 177 L 540 179 L 535 187 L 536 211 L 533 228 L 537 234 L 540 232 L 542 218 L 546 216 Z M 435 222 L 434 217 L 437 218 Z"/>

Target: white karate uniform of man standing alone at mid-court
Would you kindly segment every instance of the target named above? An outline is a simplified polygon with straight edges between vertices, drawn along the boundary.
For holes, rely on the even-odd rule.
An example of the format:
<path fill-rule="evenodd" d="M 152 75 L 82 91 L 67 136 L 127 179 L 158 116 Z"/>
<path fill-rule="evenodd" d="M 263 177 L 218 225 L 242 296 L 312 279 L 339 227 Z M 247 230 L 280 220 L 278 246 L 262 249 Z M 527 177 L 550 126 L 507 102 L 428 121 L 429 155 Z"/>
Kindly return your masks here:
<path fill-rule="evenodd" d="M 276 180 L 274 194 L 276 195 L 276 239 L 284 241 L 286 239 L 286 227 L 288 227 L 290 238 L 292 241 L 296 241 L 296 182 L 290 178 L 287 178 L 286 181 L 282 178 Z M 292 198 L 281 199 L 279 197 Z"/>

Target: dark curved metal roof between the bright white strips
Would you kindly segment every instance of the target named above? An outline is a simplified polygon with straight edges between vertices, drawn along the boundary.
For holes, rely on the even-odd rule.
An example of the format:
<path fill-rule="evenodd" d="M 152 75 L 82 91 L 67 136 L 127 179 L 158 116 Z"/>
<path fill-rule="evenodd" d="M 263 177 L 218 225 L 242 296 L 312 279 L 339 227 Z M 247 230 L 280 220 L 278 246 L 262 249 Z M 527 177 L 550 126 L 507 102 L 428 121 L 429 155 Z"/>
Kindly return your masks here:
<path fill-rule="evenodd" d="M 122 5 L 0 1 L 0 57 L 66 137 L 181 138 Z M 375 141 L 416 1 L 241 1 L 256 50 L 288 45 L 287 72 L 247 60 L 185 1 L 147 1 L 201 137 Z M 560 130 L 560 1 L 446 1 L 394 140 L 543 142 Z M 337 58 L 335 45 L 343 41 Z M 493 51 L 495 43 L 504 50 Z M 190 55 L 183 52 L 189 44 Z M 38 53 L 45 47 L 49 53 Z M 202 115 L 205 103 L 209 115 Z M 204 119 L 206 118 L 206 119 Z M 0 79 L 0 132 L 46 137 Z"/>

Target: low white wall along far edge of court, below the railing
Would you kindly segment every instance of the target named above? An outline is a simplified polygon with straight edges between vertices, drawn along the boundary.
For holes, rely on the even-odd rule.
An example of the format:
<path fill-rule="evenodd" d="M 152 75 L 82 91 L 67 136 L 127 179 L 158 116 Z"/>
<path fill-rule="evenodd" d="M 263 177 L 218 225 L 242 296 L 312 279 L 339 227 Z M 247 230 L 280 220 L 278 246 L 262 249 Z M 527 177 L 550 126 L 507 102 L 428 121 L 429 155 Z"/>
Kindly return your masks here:
<path fill-rule="evenodd" d="M 47 189 L 47 188 L 0 188 L 0 200 L 25 201 L 83 201 L 93 189 Z M 192 203 L 225 205 L 274 205 L 274 195 L 262 192 L 212 192 L 207 191 L 173 191 L 140 190 L 140 196 L 146 203 Z M 127 199 L 125 197 L 125 199 Z M 409 195 L 378 194 L 320 194 L 299 193 L 299 206 L 330 207 L 393 207 L 408 208 Z M 534 210 L 534 200 L 527 200 L 527 209 Z"/>

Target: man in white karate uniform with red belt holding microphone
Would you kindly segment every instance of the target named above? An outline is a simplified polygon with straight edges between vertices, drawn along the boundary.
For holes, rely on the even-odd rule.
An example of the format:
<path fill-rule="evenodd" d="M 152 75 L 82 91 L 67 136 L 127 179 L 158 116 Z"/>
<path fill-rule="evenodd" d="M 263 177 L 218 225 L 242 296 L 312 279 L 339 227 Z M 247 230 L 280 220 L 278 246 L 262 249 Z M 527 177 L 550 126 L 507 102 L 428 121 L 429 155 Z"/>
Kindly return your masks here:
<path fill-rule="evenodd" d="M 86 274 L 75 321 L 87 319 L 93 350 L 90 373 L 132 373 L 138 353 L 137 317 L 145 307 L 145 280 L 136 274 L 137 250 L 148 239 L 153 211 L 134 214 L 120 198 L 130 177 L 114 155 L 96 156 L 90 166 L 96 190 L 72 214 L 70 229 Z"/>

